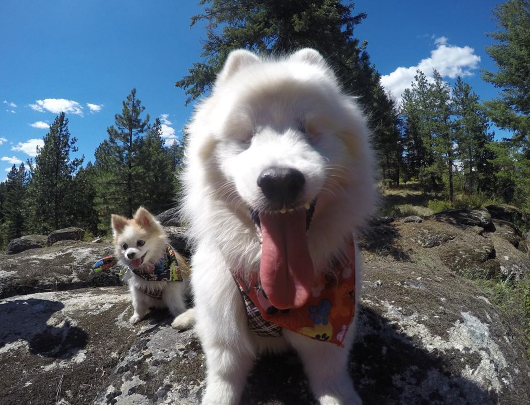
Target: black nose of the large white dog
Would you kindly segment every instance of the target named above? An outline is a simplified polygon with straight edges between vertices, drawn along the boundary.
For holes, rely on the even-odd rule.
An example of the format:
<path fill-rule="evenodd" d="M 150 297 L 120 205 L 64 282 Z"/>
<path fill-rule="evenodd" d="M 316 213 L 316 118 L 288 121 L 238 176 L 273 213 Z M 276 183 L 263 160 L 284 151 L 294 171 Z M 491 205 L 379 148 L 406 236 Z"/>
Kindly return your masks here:
<path fill-rule="evenodd" d="M 304 184 L 302 172 L 290 167 L 271 167 L 258 177 L 258 187 L 269 200 L 272 209 L 294 208 Z"/>

